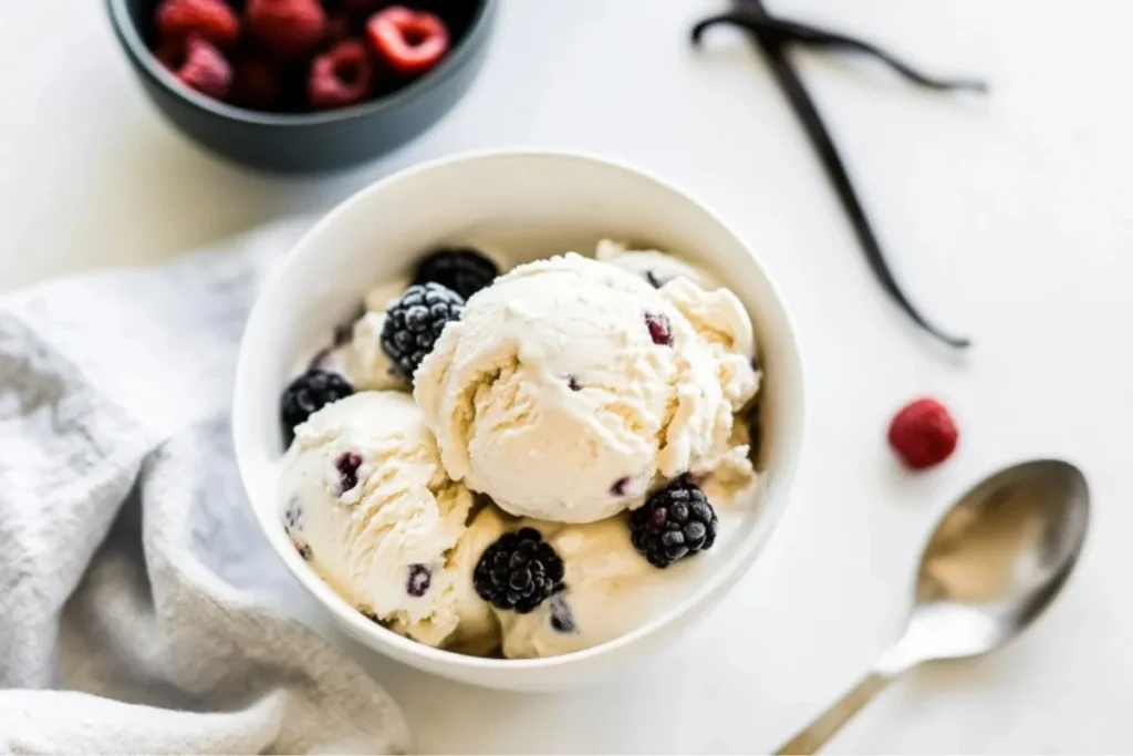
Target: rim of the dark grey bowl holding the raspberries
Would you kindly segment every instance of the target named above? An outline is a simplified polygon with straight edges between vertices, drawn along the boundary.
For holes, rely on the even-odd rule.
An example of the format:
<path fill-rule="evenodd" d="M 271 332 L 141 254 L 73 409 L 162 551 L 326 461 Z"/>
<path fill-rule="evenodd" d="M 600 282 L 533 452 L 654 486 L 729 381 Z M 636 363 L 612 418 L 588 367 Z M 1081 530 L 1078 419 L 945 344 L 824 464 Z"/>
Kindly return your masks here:
<path fill-rule="evenodd" d="M 476 14 L 468 25 L 468 31 L 465 32 L 465 35 L 457 42 L 455 46 L 449 51 L 449 54 L 424 76 L 391 92 L 386 96 L 335 110 L 312 113 L 273 113 L 231 105 L 227 102 L 205 96 L 182 85 L 177 80 L 177 77 L 157 62 L 150 48 L 146 46 L 139 29 L 134 24 L 126 8 L 126 0 L 105 0 L 114 36 L 118 37 L 119 44 L 121 44 L 127 56 L 134 62 L 134 68 L 150 80 L 155 82 L 167 92 L 176 95 L 194 109 L 210 116 L 253 126 L 279 126 L 283 128 L 338 124 L 366 118 L 402 108 L 406 103 L 425 96 L 428 92 L 440 86 L 442 82 L 455 74 L 455 71 L 463 68 L 469 59 L 476 56 L 480 45 L 475 40 L 486 33 L 497 2 L 499 0 L 477 0 Z"/>

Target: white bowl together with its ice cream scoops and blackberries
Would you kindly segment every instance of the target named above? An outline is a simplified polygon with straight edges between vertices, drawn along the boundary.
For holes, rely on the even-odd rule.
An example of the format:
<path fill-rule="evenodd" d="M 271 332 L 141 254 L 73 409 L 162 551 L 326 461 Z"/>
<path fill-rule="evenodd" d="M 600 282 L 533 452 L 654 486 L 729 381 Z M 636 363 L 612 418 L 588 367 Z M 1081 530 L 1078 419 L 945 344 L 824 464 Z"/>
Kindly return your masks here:
<path fill-rule="evenodd" d="M 702 204 L 492 152 L 297 244 L 249 318 L 233 436 L 267 541 L 346 632 L 559 689 L 726 600 L 786 506 L 802 396 L 778 291 Z"/>

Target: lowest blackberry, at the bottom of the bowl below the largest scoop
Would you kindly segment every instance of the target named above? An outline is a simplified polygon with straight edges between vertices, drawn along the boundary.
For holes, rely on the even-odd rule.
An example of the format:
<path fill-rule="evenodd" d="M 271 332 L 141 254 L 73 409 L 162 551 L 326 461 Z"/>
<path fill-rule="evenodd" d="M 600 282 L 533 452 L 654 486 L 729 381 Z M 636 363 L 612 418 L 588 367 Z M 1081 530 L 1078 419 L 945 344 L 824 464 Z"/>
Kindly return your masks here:
<path fill-rule="evenodd" d="M 563 560 L 535 528 L 506 533 L 487 547 L 472 572 L 480 598 L 527 614 L 563 589 Z"/>

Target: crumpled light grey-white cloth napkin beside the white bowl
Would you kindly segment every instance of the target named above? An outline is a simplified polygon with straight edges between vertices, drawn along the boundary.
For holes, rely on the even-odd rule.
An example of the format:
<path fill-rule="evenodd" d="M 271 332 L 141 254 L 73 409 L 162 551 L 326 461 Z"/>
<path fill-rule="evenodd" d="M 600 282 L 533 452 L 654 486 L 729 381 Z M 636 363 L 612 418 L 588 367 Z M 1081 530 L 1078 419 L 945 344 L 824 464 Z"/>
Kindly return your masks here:
<path fill-rule="evenodd" d="M 232 461 L 245 316 L 305 228 L 0 298 L 0 753 L 408 748 L 271 608 L 295 588 Z"/>

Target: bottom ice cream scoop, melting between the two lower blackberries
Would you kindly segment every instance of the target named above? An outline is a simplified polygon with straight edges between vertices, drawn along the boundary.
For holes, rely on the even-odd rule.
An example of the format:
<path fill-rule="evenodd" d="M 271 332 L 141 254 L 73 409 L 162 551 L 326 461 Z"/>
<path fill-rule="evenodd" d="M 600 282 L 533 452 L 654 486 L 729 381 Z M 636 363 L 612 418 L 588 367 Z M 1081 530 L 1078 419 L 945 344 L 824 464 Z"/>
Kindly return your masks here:
<path fill-rule="evenodd" d="M 508 659 L 569 654 L 625 635 L 682 597 L 690 571 L 702 568 L 706 557 L 657 569 L 633 549 L 624 516 L 522 525 L 543 533 L 562 558 L 566 587 L 528 614 L 496 611 Z"/>

